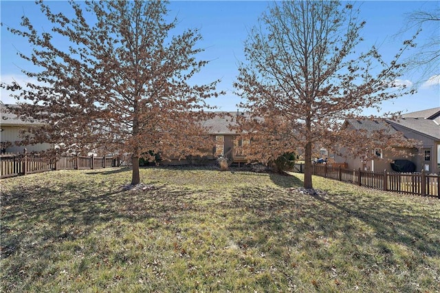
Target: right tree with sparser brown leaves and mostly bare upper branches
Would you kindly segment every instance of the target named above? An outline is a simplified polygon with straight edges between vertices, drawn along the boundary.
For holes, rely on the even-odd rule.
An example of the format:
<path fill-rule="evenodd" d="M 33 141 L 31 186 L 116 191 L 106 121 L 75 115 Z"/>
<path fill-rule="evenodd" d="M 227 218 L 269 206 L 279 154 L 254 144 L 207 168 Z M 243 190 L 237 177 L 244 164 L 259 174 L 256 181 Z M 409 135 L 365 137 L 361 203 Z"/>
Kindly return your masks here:
<path fill-rule="evenodd" d="M 265 160 L 301 147 L 305 188 L 313 187 L 314 146 L 364 147 L 361 135 L 354 139 L 355 133 L 340 128 L 343 120 L 412 91 L 395 81 L 405 67 L 399 58 L 412 40 L 386 63 L 375 47 L 355 51 L 364 25 L 351 4 L 283 1 L 263 14 L 245 42 L 246 62 L 234 85 L 240 106 L 251 115 L 241 122 L 243 136 L 254 139 L 252 153 Z M 271 147 L 259 149 L 260 142 Z"/>

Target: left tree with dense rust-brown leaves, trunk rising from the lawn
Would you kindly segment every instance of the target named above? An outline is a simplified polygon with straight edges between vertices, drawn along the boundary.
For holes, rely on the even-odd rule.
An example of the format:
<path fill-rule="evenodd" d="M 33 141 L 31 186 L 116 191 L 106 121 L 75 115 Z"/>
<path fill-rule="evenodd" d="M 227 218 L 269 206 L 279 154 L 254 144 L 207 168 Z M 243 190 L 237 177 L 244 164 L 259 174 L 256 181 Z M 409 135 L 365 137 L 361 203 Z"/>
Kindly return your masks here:
<path fill-rule="evenodd" d="M 20 56 L 41 69 L 24 72 L 38 83 L 2 85 L 15 91 L 21 118 L 46 122 L 25 142 L 50 142 L 59 151 L 129 153 L 131 184 L 140 182 L 141 157 L 161 152 L 183 158 L 206 149 L 206 129 L 197 120 L 206 116 L 204 100 L 218 96 L 218 80 L 190 83 L 208 63 L 196 59 L 201 35 L 186 30 L 172 36 L 177 20 L 166 21 L 166 4 L 72 1 L 69 19 L 40 2 L 51 32 L 39 32 L 28 17 L 21 29 L 8 28 L 32 45 L 32 54 Z"/>

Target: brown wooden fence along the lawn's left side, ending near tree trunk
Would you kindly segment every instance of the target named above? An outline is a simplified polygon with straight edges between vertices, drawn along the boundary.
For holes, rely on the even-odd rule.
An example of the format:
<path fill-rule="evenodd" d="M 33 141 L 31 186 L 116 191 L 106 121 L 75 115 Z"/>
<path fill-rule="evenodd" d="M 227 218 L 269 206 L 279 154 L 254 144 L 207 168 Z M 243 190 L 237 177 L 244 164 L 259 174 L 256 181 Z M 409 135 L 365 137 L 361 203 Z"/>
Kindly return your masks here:
<path fill-rule="evenodd" d="M 58 155 L 56 158 L 26 153 L 0 155 L 1 178 L 52 170 L 101 169 L 117 166 L 131 166 L 131 159 L 94 155 Z"/>

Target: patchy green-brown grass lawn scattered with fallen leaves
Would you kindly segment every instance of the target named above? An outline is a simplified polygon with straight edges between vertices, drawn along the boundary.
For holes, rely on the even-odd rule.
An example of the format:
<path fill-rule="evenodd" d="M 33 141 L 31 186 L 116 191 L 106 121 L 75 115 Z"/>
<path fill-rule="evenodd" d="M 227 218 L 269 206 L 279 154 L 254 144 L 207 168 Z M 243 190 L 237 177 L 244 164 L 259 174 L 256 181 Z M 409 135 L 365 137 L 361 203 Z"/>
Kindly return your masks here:
<path fill-rule="evenodd" d="M 1 292 L 439 292 L 440 200 L 209 169 L 1 180 Z M 151 184 L 151 185 L 148 185 Z"/>

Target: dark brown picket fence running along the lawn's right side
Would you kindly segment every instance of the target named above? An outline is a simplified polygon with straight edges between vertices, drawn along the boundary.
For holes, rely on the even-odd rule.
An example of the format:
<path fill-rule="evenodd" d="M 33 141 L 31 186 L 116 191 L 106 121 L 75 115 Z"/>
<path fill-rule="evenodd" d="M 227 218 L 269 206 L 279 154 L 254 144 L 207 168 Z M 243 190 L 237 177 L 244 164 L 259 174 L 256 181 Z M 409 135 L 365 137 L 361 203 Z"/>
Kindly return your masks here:
<path fill-rule="evenodd" d="M 304 173 L 304 164 L 295 164 L 294 171 Z M 371 172 L 361 171 L 361 169 L 343 169 L 341 166 L 327 166 L 325 164 L 312 164 L 311 173 L 383 191 L 432 195 L 440 198 L 440 175 L 437 174 Z"/>

